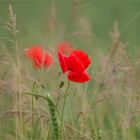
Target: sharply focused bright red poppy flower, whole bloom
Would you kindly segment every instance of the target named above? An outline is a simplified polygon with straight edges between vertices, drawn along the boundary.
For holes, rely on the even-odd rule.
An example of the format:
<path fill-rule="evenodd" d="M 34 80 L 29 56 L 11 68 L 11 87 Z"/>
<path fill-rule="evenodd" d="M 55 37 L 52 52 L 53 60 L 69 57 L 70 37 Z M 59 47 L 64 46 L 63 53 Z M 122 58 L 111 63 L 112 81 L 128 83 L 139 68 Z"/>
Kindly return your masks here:
<path fill-rule="evenodd" d="M 91 60 L 84 51 L 73 50 L 68 57 L 59 52 L 58 58 L 63 73 L 68 72 L 69 80 L 81 83 L 90 80 L 85 70 L 91 63 Z"/>

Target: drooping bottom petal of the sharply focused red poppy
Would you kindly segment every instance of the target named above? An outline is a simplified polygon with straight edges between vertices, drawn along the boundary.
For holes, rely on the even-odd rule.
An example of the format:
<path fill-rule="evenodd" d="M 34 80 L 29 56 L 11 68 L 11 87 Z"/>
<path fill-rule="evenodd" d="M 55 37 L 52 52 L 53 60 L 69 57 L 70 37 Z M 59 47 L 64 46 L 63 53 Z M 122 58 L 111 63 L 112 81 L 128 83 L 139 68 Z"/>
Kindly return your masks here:
<path fill-rule="evenodd" d="M 73 82 L 80 82 L 84 83 L 90 80 L 90 77 L 86 71 L 82 73 L 76 73 L 76 72 L 69 72 L 68 73 L 68 79 Z"/>

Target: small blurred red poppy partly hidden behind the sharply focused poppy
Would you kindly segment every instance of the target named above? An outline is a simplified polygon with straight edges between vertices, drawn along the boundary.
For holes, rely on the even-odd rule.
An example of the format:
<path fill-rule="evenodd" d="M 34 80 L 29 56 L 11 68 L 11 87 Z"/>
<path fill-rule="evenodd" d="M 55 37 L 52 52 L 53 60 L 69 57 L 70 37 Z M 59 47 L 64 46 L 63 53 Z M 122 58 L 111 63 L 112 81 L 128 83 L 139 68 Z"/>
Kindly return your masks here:
<path fill-rule="evenodd" d="M 62 52 L 65 55 L 69 55 L 72 50 L 73 46 L 69 42 L 62 42 L 58 45 L 58 52 Z"/>

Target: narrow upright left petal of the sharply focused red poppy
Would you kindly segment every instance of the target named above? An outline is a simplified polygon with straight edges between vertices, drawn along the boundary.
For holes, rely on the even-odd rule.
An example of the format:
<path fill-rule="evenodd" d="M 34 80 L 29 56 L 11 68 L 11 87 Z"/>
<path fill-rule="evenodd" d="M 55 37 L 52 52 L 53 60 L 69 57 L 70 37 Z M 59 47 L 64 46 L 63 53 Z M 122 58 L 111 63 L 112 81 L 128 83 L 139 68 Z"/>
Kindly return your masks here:
<path fill-rule="evenodd" d="M 58 58 L 59 58 L 60 66 L 61 66 L 63 73 L 67 72 L 69 70 L 68 57 L 66 57 L 62 52 L 59 52 Z"/>

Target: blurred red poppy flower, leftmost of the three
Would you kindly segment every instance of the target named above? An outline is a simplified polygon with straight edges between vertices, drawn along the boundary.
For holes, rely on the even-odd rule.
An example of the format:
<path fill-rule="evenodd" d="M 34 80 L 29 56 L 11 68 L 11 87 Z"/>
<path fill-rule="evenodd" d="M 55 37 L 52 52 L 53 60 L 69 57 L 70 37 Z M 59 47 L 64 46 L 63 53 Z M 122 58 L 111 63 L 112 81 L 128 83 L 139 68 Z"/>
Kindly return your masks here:
<path fill-rule="evenodd" d="M 35 68 L 48 68 L 53 62 L 51 54 L 43 50 L 40 45 L 33 45 L 31 48 L 27 49 L 26 55 L 32 60 Z"/>

